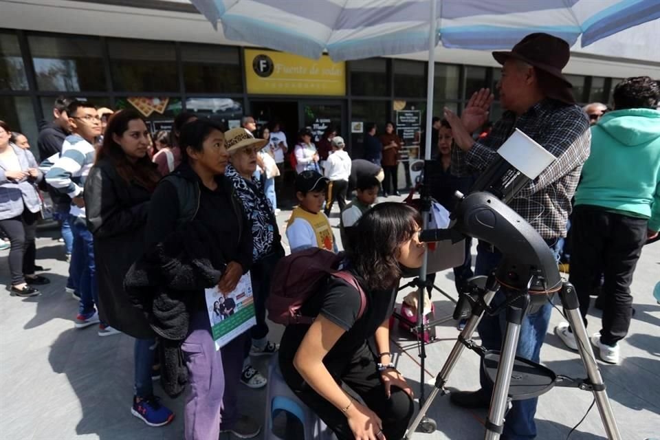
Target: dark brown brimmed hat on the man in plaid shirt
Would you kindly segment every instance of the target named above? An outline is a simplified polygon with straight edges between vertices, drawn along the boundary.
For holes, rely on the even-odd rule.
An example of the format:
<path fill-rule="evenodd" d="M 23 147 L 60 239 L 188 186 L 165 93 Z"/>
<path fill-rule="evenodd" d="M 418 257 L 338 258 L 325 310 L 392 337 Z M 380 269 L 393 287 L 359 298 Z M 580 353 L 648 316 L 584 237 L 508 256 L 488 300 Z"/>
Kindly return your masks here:
<path fill-rule="evenodd" d="M 542 32 L 529 34 L 510 52 L 493 52 L 493 58 L 502 65 L 514 58 L 533 66 L 545 96 L 575 104 L 573 85 L 562 74 L 562 69 L 571 58 L 571 47 L 566 41 Z"/>

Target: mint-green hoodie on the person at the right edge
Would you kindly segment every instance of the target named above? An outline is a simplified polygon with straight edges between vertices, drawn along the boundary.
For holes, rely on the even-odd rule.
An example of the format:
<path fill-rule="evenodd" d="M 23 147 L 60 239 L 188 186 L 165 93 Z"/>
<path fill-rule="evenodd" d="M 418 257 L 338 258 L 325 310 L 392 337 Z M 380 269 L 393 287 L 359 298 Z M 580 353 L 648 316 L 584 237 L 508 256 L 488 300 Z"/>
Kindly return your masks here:
<path fill-rule="evenodd" d="M 660 110 L 610 111 L 591 127 L 575 205 L 630 212 L 660 230 Z"/>

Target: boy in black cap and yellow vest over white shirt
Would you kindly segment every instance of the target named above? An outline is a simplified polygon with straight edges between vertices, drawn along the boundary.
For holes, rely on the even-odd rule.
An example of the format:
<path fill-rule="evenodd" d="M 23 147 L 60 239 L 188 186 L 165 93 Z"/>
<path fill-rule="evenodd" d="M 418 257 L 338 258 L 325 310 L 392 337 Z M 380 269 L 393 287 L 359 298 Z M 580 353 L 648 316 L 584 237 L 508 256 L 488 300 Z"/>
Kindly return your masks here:
<path fill-rule="evenodd" d="M 296 176 L 296 197 L 299 204 L 287 223 L 287 239 L 292 253 L 307 248 L 337 252 L 330 222 L 321 212 L 327 185 L 327 177 L 316 171 L 303 171 Z"/>

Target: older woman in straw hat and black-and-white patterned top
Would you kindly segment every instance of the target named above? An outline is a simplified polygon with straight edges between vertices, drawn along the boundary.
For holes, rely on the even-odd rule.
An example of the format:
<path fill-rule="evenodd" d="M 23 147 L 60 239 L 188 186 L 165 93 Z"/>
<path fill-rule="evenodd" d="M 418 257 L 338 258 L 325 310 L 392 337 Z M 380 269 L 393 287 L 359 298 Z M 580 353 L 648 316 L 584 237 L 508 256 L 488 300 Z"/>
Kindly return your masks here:
<path fill-rule="evenodd" d="M 225 175 L 232 181 L 243 209 L 248 212 L 254 242 L 250 274 L 256 325 L 250 331 L 252 344 L 245 350 L 241 382 L 250 388 L 261 388 L 265 386 L 266 379 L 250 364 L 250 355 L 272 355 L 278 349 L 278 344 L 267 339 L 265 303 L 272 272 L 275 264 L 284 256 L 284 249 L 272 206 L 263 192 L 261 181 L 252 178 L 256 169 L 256 155 L 267 141 L 255 139 L 241 129 L 231 129 L 225 133 L 225 138 L 230 155 Z"/>

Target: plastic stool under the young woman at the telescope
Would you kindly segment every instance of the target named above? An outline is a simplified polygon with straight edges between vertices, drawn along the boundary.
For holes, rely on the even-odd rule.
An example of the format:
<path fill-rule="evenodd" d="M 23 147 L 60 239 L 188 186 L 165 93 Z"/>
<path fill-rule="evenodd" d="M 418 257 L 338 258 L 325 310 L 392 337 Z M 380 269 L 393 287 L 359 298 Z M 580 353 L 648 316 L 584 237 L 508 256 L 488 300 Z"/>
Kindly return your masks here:
<path fill-rule="evenodd" d="M 335 434 L 307 405 L 296 397 L 291 388 L 284 382 L 277 355 L 273 356 L 268 366 L 268 390 L 266 394 L 265 425 L 267 430 L 264 440 L 283 440 L 273 432 L 273 420 L 281 411 L 286 411 L 300 421 L 305 435 L 302 440 L 336 440 Z"/>

